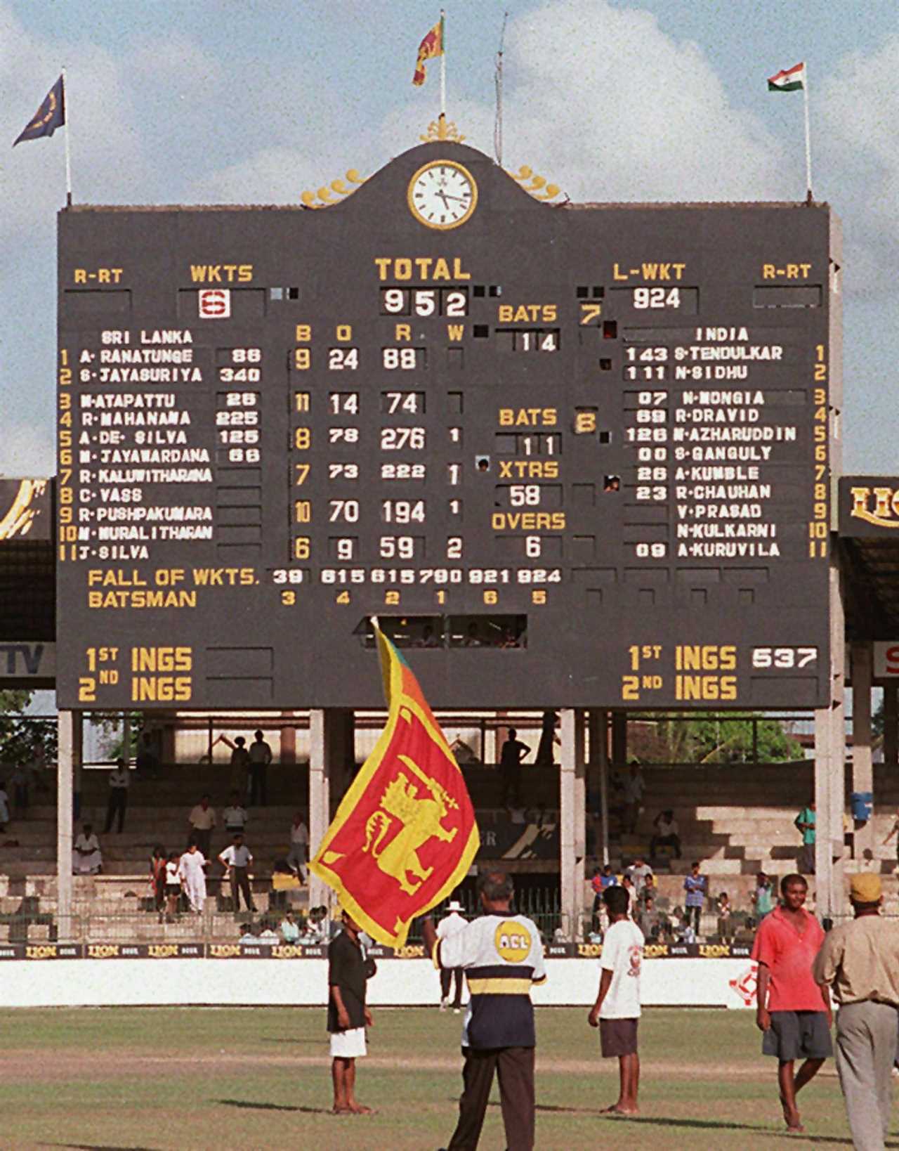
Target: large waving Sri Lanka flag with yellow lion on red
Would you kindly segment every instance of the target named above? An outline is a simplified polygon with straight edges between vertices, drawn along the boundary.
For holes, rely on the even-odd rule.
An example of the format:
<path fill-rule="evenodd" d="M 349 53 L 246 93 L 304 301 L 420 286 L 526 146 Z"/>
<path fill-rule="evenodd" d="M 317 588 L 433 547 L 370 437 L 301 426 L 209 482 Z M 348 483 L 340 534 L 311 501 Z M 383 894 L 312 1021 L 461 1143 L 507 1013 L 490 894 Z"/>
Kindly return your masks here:
<path fill-rule="evenodd" d="M 480 845 L 459 765 L 403 656 L 374 625 L 387 726 L 343 796 L 311 870 L 378 943 L 402 947 Z"/>

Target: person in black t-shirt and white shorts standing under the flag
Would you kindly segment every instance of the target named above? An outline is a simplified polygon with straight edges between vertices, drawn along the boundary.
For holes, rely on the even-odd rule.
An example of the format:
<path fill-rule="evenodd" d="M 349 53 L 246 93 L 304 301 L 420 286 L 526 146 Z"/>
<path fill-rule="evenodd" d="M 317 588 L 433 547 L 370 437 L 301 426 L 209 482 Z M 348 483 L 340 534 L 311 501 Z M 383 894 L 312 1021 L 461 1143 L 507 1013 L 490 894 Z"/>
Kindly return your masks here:
<path fill-rule="evenodd" d="M 359 942 L 361 928 L 343 913 L 343 931 L 328 944 L 328 1031 L 335 1115 L 371 1115 L 356 1102 L 356 1060 L 365 1055 L 365 1028 L 373 1027 L 365 1006 L 366 982 L 375 974 Z"/>

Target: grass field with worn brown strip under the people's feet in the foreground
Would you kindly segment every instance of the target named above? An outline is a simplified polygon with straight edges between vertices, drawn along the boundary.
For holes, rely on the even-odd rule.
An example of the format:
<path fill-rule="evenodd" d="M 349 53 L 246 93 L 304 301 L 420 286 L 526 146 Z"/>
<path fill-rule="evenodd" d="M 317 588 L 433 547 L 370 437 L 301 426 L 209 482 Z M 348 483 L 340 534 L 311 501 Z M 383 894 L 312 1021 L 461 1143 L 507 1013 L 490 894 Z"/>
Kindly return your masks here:
<path fill-rule="evenodd" d="M 85 1151 L 435 1151 L 459 1093 L 459 1016 L 381 1008 L 359 1061 L 373 1116 L 328 1114 L 323 1009 L 15 1009 L 0 1022 L 0 1146 Z M 541 1151 L 725 1151 L 852 1146 L 832 1061 L 800 1096 L 787 1135 L 775 1062 L 753 1013 L 655 1009 L 640 1026 L 638 1119 L 605 1119 L 617 1062 L 599 1058 L 586 1009 L 538 1012 Z M 494 1098 L 497 1099 L 494 1088 Z M 892 1146 L 899 1146 L 894 1138 Z M 497 1103 L 480 1143 L 505 1146 Z"/>

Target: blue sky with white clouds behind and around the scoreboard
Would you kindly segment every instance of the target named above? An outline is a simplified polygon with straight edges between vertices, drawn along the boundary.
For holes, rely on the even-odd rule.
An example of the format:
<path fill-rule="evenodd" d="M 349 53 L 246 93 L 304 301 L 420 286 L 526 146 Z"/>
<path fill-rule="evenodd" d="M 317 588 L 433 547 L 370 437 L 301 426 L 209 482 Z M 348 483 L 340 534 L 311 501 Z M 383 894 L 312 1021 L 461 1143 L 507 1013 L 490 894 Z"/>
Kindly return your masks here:
<path fill-rule="evenodd" d="M 448 114 L 573 200 L 805 196 L 844 227 L 844 471 L 897 472 L 899 5 L 896 0 L 447 0 Z M 52 474 L 55 214 L 76 203 L 284 204 L 418 143 L 439 6 L 422 0 L 0 0 L 0 474 Z M 13 140 L 67 67 L 68 127 Z M 2 153 L 0 153 L 2 154 Z"/>

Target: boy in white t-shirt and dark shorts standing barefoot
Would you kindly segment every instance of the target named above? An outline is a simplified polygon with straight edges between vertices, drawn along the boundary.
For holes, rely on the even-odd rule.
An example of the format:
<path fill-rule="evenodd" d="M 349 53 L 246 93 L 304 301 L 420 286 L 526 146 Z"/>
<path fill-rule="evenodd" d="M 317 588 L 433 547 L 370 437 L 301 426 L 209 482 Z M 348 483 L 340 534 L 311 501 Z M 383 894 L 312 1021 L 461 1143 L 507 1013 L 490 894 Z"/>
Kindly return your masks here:
<path fill-rule="evenodd" d="M 643 933 L 627 916 L 630 895 L 624 887 L 607 887 L 602 899 L 609 910 L 610 927 L 602 940 L 600 990 L 587 1022 L 600 1029 L 603 1059 L 618 1058 L 618 1102 L 605 1107 L 603 1113 L 637 1115 L 640 1084 L 637 1024 L 640 1019 Z"/>

